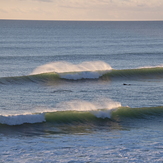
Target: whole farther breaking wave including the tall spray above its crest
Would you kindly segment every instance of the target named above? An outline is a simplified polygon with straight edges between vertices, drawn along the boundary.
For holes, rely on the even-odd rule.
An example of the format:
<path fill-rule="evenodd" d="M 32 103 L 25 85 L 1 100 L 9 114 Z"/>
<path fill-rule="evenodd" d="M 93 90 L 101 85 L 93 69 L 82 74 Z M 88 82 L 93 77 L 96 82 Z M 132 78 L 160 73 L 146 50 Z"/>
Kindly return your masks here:
<path fill-rule="evenodd" d="M 58 80 L 115 80 L 163 78 L 163 66 L 115 70 L 102 61 L 83 62 L 74 65 L 68 62 L 53 62 L 36 68 L 30 75 L 2 77 L 0 84 L 55 83 Z"/>

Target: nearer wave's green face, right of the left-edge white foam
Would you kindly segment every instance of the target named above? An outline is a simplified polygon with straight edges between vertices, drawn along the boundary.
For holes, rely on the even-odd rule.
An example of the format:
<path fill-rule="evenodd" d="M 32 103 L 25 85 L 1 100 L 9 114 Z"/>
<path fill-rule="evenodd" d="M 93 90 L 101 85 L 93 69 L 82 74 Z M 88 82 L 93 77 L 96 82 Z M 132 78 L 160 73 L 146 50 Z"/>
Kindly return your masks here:
<path fill-rule="evenodd" d="M 163 106 L 130 108 L 119 107 L 117 109 L 96 110 L 96 111 L 58 111 L 45 114 L 46 122 L 53 123 L 101 123 L 115 122 L 125 118 L 130 119 L 149 119 L 151 117 L 163 116 Z"/>

